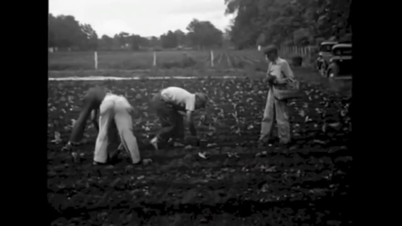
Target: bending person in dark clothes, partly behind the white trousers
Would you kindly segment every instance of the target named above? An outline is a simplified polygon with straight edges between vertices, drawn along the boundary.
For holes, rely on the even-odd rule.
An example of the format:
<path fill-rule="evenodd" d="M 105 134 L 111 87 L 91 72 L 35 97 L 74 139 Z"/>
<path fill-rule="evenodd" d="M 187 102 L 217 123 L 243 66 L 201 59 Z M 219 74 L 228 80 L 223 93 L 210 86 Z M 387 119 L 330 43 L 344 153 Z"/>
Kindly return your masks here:
<path fill-rule="evenodd" d="M 99 131 L 97 115 L 100 103 L 103 101 L 108 92 L 110 92 L 110 90 L 103 86 L 92 87 L 86 92 L 82 100 L 83 106 L 80 116 L 74 123 L 70 140 L 68 141 L 67 145 L 63 147 L 63 150 L 71 150 L 73 145 L 77 145 L 80 140 L 82 140 L 88 118 L 91 119 L 95 129 Z M 121 150 L 122 148 L 123 146 L 120 144 L 119 149 Z"/>

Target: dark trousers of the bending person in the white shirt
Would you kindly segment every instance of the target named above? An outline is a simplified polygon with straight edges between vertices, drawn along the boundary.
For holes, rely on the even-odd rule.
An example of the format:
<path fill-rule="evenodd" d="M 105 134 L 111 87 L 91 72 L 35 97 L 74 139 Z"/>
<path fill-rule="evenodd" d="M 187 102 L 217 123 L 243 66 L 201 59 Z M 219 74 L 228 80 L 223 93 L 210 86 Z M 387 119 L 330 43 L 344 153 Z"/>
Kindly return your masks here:
<path fill-rule="evenodd" d="M 152 99 L 156 115 L 158 116 L 162 129 L 156 135 L 158 141 L 166 143 L 169 138 L 183 141 L 184 139 L 184 122 L 183 116 L 180 115 L 178 109 L 173 104 L 164 101 L 160 93 L 156 94 Z"/>

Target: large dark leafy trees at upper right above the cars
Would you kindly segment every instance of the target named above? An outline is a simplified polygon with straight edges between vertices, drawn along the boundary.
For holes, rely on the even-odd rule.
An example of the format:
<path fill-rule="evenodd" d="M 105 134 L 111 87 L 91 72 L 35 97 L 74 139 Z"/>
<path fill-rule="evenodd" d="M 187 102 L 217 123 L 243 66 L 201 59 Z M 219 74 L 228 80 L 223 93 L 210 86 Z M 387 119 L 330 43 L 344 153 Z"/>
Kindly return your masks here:
<path fill-rule="evenodd" d="M 225 0 L 225 4 L 225 13 L 236 15 L 230 40 L 238 49 L 351 41 L 351 0 Z"/>

